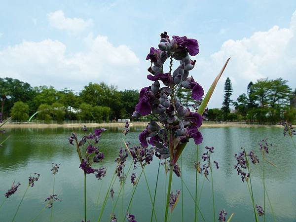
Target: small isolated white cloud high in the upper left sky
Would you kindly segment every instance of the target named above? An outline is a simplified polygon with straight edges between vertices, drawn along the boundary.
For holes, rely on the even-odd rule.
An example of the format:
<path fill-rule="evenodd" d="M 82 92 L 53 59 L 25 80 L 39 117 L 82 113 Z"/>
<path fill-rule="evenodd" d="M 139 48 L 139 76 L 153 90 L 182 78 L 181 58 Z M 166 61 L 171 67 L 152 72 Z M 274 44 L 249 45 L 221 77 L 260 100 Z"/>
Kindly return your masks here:
<path fill-rule="evenodd" d="M 81 32 L 92 25 L 92 20 L 83 20 L 81 18 L 66 18 L 62 10 L 57 10 L 47 14 L 49 24 L 60 30 L 70 32 Z"/>

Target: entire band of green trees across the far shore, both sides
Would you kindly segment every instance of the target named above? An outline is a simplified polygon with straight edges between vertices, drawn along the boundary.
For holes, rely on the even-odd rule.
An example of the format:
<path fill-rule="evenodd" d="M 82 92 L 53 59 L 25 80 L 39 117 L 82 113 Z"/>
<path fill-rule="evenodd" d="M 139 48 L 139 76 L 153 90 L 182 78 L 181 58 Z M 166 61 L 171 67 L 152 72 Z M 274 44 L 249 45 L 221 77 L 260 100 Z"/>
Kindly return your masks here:
<path fill-rule="evenodd" d="M 209 109 L 205 117 L 214 121 L 295 122 L 296 109 L 290 103 L 293 99 L 296 101 L 296 89 L 292 91 L 287 82 L 282 78 L 259 79 L 255 83 L 250 82 L 246 93 L 232 100 L 232 84 L 227 78 L 222 108 Z M 184 88 L 179 89 L 177 97 L 191 110 L 199 105 L 192 100 L 189 90 Z M 67 88 L 57 90 L 52 86 L 32 87 L 18 79 L 0 78 L 0 112 L 3 118 L 11 116 L 13 120 L 26 121 L 36 112 L 33 119 L 48 122 L 102 122 L 130 118 L 138 100 L 138 90 L 119 91 L 116 86 L 104 82 L 90 82 L 79 93 L 75 93 Z"/>

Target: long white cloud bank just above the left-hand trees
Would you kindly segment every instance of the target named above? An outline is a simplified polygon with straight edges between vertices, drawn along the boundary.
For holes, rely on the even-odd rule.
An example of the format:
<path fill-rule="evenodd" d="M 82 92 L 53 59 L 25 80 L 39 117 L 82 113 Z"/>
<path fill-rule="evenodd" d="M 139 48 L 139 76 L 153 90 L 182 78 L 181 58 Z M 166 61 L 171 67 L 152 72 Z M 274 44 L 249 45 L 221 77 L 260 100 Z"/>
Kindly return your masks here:
<path fill-rule="evenodd" d="M 139 59 L 126 45 L 114 46 L 107 37 L 89 35 L 85 50 L 67 54 L 58 40 L 23 41 L 0 51 L 0 77 L 13 77 L 33 86 L 53 85 L 81 90 L 92 82 L 107 82 L 123 88 L 137 88 Z"/>

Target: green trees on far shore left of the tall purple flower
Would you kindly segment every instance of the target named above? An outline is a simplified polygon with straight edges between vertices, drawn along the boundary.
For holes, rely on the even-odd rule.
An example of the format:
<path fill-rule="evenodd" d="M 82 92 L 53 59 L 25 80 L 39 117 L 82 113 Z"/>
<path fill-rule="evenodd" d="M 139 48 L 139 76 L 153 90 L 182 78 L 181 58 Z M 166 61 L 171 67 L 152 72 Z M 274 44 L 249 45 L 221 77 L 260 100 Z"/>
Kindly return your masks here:
<path fill-rule="evenodd" d="M 0 112 L 3 118 L 26 121 L 34 113 L 37 120 L 109 121 L 130 118 L 139 100 L 138 90 L 119 91 L 116 86 L 90 82 L 79 93 L 52 86 L 32 87 L 27 82 L 0 78 Z"/>

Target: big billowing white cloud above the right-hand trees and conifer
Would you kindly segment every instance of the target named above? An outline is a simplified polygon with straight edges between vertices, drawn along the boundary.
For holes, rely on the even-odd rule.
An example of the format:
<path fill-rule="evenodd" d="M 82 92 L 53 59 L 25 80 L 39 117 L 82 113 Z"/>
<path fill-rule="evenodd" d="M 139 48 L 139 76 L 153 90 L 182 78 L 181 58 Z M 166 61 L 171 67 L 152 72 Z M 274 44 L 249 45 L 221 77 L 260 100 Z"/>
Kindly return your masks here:
<path fill-rule="evenodd" d="M 296 86 L 296 11 L 291 18 L 289 28 L 273 26 L 266 32 L 256 32 L 251 37 L 240 40 L 229 39 L 222 44 L 220 51 L 209 59 L 202 58 L 196 64 L 197 73 L 201 74 L 202 85 L 207 89 L 228 57 L 230 62 L 218 84 L 210 107 L 221 107 L 223 85 L 227 76 L 232 80 L 236 100 L 246 92 L 250 81 L 269 77 L 282 77 L 288 84 Z M 199 77 L 197 79 L 200 79 Z"/>

